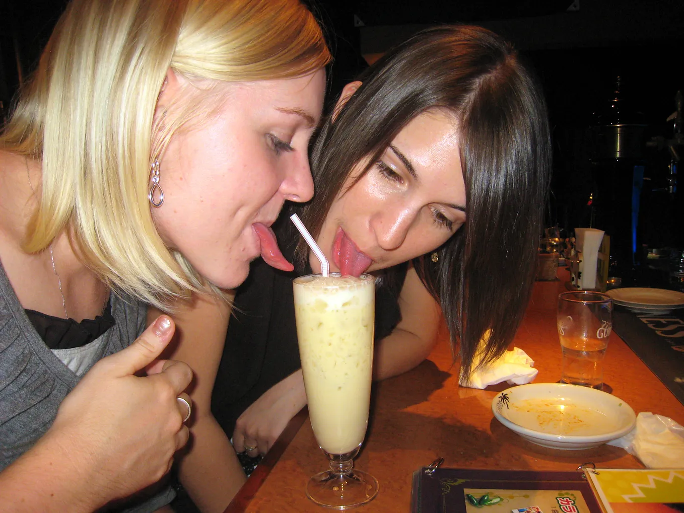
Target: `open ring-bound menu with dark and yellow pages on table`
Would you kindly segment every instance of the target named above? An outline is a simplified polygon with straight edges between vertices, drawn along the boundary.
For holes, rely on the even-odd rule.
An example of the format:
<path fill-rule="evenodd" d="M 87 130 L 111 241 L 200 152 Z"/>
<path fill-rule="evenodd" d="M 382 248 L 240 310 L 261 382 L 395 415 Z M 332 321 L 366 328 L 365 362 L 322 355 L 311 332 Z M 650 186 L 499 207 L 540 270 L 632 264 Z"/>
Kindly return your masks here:
<path fill-rule="evenodd" d="M 412 513 L 679 513 L 684 469 L 508 471 L 423 467 Z"/>

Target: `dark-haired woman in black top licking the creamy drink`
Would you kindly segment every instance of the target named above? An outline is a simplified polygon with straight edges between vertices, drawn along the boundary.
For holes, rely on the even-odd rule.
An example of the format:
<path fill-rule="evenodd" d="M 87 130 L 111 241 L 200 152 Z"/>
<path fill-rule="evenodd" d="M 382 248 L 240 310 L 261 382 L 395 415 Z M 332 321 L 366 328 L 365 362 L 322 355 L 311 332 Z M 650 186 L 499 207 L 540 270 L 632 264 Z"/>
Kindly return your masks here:
<path fill-rule="evenodd" d="M 539 86 L 486 29 L 421 31 L 345 87 L 313 146 L 315 196 L 292 210 L 332 270 L 382 277 L 377 379 L 428 356 L 440 315 L 465 373 L 487 330 L 483 364 L 506 349 L 534 282 L 550 153 Z M 209 339 L 201 316 L 178 319 L 174 357 L 198 375 L 211 369 L 211 411 L 208 384 L 194 400 L 249 456 L 266 453 L 306 404 L 291 280 L 319 263 L 287 217 L 276 232 L 297 269 L 253 264 L 225 343 Z M 220 364 L 197 365 L 207 354 Z"/>

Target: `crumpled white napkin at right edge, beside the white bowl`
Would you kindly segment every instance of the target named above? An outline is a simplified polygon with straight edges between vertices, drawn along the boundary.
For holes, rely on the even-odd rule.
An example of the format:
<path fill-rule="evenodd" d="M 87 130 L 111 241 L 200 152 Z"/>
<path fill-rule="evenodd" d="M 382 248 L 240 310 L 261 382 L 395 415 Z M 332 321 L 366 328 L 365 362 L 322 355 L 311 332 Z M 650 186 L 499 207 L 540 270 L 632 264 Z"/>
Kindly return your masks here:
<path fill-rule="evenodd" d="M 651 412 L 637 415 L 634 429 L 608 445 L 622 447 L 650 469 L 679 469 L 684 464 L 684 428 Z"/>

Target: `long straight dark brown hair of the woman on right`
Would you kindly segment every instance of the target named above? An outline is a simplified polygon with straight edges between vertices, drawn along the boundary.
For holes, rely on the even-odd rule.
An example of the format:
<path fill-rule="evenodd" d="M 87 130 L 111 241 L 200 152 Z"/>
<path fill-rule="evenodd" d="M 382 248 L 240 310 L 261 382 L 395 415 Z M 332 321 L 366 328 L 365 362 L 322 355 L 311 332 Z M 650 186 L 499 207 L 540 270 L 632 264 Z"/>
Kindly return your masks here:
<path fill-rule="evenodd" d="M 466 222 L 437 249 L 437 263 L 423 256 L 414 266 L 440 302 L 454 356 L 458 346 L 469 373 L 487 330 L 482 363 L 508 347 L 534 283 L 551 156 L 540 88 L 510 44 L 469 26 L 423 30 L 359 80 L 363 85 L 317 136 L 316 194 L 298 210 L 317 237 L 356 163 L 371 155 L 367 172 L 410 120 L 448 109 L 458 121 Z M 296 256 L 306 261 L 305 243 Z"/>

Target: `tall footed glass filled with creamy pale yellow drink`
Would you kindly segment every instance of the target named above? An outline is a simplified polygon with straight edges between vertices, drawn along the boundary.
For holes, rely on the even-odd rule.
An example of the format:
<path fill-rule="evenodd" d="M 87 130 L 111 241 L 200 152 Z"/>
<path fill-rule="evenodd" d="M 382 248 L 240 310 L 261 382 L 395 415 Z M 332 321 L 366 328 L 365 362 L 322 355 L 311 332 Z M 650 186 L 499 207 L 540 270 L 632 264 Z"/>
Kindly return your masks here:
<path fill-rule="evenodd" d="M 378 493 L 376 478 L 352 462 L 368 425 L 375 279 L 310 274 L 293 287 L 308 414 L 330 463 L 309 479 L 306 495 L 328 508 L 354 508 Z"/>

